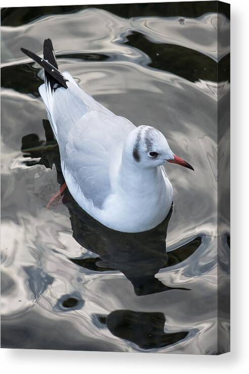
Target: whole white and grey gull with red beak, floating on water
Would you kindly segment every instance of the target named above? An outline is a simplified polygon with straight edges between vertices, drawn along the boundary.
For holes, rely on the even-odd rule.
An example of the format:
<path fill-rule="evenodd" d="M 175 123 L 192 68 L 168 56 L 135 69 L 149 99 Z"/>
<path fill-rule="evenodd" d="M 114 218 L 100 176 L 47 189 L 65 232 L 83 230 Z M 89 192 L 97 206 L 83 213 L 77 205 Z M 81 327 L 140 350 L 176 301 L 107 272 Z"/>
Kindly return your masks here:
<path fill-rule="evenodd" d="M 44 68 L 39 87 L 59 145 L 66 186 L 77 204 L 104 226 L 127 233 L 155 228 L 173 203 L 163 165 L 192 169 L 156 128 L 116 116 L 61 73 L 50 39 L 44 56 L 21 48 Z"/>

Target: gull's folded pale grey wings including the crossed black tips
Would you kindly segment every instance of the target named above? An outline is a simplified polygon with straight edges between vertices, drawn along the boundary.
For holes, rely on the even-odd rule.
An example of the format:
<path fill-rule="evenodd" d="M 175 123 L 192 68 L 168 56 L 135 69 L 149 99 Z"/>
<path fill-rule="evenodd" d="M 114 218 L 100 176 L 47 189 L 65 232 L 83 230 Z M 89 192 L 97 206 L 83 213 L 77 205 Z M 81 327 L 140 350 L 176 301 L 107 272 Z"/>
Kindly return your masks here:
<path fill-rule="evenodd" d="M 50 39 L 44 42 L 44 58 L 22 51 L 45 69 L 39 93 L 59 144 L 67 185 L 76 191 L 73 196 L 80 197 L 81 206 L 84 196 L 101 209 L 111 193 L 110 161 L 135 126 L 81 90 L 68 72 L 58 70 Z"/>

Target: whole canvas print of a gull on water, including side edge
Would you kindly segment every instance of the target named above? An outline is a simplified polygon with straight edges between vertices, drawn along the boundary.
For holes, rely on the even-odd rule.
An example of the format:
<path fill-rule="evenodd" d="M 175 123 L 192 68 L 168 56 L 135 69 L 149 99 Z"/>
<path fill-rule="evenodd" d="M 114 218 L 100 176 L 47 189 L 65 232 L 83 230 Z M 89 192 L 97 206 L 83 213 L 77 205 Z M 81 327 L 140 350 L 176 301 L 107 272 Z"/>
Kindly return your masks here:
<path fill-rule="evenodd" d="M 230 8 L 3 8 L 3 348 L 229 351 Z"/>

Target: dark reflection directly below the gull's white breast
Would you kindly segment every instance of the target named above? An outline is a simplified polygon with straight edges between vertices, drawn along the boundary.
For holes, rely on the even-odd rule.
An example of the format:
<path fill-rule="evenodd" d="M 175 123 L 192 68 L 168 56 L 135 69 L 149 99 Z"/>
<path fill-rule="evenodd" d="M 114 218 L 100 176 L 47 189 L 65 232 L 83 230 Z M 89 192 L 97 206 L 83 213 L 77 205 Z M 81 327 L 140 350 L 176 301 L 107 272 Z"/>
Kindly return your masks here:
<path fill-rule="evenodd" d="M 81 246 L 99 255 L 97 258 L 71 258 L 74 264 L 95 271 L 118 270 L 132 282 L 137 295 L 171 289 L 187 290 L 169 287 L 155 278 L 161 268 L 178 264 L 201 242 L 200 238 L 196 238 L 184 247 L 166 252 L 165 238 L 172 209 L 155 229 L 130 234 L 106 228 L 82 211 L 74 201 L 69 202 L 67 193 L 63 200 L 70 212 L 73 237 Z"/>

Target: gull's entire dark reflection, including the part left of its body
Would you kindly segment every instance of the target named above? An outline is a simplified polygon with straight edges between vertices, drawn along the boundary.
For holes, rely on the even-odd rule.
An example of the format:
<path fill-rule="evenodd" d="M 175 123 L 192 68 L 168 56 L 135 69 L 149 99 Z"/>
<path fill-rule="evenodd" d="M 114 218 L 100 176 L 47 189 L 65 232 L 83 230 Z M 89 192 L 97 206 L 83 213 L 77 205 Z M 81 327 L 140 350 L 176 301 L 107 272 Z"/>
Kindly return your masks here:
<path fill-rule="evenodd" d="M 62 185 L 59 148 L 54 139 L 50 123 L 43 121 L 46 141 L 30 134 L 22 139 L 24 157 L 39 158 L 39 161 L 27 161 L 26 165 L 41 164 L 52 168 L 55 164 L 57 179 Z M 172 208 L 168 216 L 156 228 L 143 233 L 122 233 L 111 230 L 92 218 L 74 201 L 68 189 L 63 193 L 63 204 L 70 213 L 74 239 L 87 250 L 98 255 L 97 258 L 71 258 L 80 266 L 94 271 L 117 270 L 131 281 L 137 295 L 146 295 L 171 289 L 188 290 L 182 287 L 169 287 L 155 278 L 162 268 L 180 263 L 188 258 L 200 245 L 197 237 L 188 244 L 169 253 L 166 252 L 165 239 Z"/>

